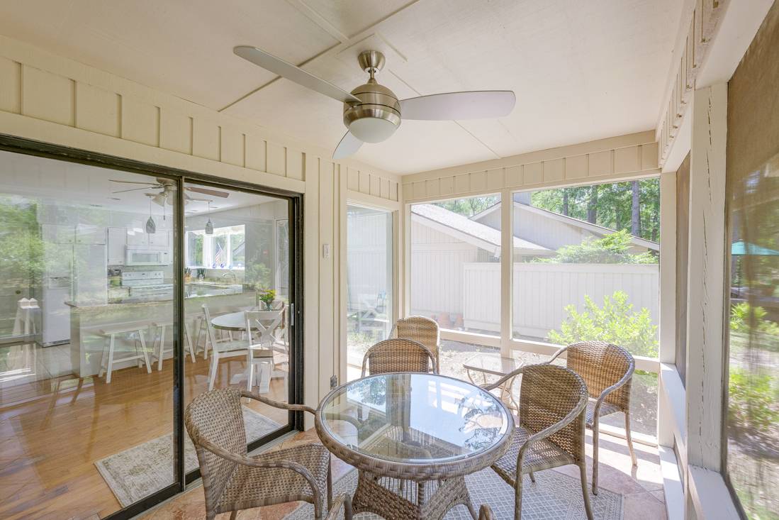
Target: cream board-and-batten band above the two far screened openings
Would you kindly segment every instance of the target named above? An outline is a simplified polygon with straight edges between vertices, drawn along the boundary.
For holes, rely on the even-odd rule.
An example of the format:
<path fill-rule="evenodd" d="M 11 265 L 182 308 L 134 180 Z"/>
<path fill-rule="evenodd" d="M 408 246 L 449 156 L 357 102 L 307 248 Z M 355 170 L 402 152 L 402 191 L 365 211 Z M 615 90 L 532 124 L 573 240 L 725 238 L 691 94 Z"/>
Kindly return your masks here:
<path fill-rule="evenodd" d="M 403 177 L 404 202 L 631 179 L 659 172 L 654 132 L 530 152 Z"/>

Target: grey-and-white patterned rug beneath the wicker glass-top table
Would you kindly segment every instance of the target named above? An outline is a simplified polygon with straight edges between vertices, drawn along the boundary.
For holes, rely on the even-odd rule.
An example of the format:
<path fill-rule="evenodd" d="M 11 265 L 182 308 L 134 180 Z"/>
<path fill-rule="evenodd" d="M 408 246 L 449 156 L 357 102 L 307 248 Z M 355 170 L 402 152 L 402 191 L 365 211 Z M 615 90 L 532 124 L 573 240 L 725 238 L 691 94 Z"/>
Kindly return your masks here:
<path fill-rule="evenodd" d="M 489 504 L 496 518 L 514 518 L 514 490 L 492 469 L 465 477 L 471 501 L 478 510 L 481 504 Z M 333 484 L 333 497 L 338 493 L 354 493 L 357 488 L 357 470 L 347 473 Z M 597 520 L 622 520 L 622 495 L 601 487 L 597 497 L 590 493 L 593 515 Z M 303 503 L 287 515 L 287 520 L 310 520 L 314 518 L 312 504 Z M 338 518 L 343 518 L 343 514 Z M 354 515 L 359 520 L 380 518 L 371 513 Z M 554 470 L 536 473 L 536 483 L 530 483 L 525 476 L 522 493 L 522 518 L 527 520 L 579 520 L 587 518 L 584 514 L 584 501 L 579 479 Z M 468 509 L 458 505 L 449 510 L 446 520 L 472 520 Z"/>

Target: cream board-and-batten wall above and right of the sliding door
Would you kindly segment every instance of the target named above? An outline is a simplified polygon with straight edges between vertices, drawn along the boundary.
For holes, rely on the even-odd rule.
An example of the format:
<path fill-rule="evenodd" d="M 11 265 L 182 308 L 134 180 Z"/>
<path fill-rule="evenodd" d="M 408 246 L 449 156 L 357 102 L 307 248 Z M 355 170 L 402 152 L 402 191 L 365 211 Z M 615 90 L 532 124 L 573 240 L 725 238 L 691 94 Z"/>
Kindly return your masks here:
<path fill-rule="evenodd" d="M 305 402 L 319 402 L 338 373 L 346 200 L 400 207 L 397 175 L 2 36 L 0 133 L 303 193 Z"/>

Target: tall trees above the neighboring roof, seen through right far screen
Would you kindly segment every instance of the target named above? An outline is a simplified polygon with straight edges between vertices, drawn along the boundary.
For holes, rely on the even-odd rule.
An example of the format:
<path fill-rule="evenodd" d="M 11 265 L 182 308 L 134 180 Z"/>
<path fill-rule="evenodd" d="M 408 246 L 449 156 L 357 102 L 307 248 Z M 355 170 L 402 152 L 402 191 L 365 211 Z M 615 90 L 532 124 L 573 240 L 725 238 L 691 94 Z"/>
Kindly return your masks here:
<path fill-rule="evenodd" d="M 660 179 L 638 181 L 637 191 L 639 236 L 657 242 L 660 239 Z M 594 201 L 594 215 L 590 217 L 594 219 L 588 218 L 591 201 Z M 624 229 L 630 232 L 633 228 L 632 182 L 544 189 L 534 192 L 531 202 L 535 207 L 583 221 L 589 220 L 616 231 Z"/>

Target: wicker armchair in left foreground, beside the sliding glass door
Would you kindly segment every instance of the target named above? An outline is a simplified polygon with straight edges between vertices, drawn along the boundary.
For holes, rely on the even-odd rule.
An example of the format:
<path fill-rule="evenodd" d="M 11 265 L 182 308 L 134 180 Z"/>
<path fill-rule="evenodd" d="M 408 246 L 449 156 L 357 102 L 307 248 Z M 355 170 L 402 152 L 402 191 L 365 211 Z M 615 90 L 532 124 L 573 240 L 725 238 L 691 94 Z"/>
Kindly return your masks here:
<path fill-rule="evenodd" d="M 241 509 L 306 501 L 322 518 L 323 493 L 332 502 L 330 452 L 321 444 L 305 444 L 249 457 L 241 397 L 256 399 L 280 409 L 314 413 L 303 405 L 288 405 L 249 391 L 224 388 L 197 396 L 184 414 L 184 424 L 195 444 L 206 518 L 231 511 L 234 520 Z"/>

